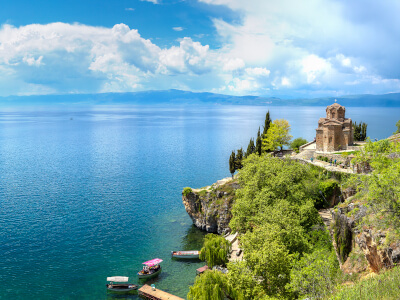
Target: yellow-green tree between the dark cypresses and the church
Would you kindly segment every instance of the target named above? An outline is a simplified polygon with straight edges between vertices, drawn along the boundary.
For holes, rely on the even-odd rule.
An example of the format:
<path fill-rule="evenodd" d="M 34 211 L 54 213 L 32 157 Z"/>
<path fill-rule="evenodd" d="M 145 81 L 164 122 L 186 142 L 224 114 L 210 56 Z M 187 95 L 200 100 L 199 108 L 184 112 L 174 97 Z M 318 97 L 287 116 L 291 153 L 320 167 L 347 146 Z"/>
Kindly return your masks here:
<path fill-rule="evenodd" d="M 268 129 L 267 136 L 263 138 L 263 151 L 274 151 L 277 148 L 288 146 L 292 139 L 289 122 L 284 119 L 274 120 Z"/>

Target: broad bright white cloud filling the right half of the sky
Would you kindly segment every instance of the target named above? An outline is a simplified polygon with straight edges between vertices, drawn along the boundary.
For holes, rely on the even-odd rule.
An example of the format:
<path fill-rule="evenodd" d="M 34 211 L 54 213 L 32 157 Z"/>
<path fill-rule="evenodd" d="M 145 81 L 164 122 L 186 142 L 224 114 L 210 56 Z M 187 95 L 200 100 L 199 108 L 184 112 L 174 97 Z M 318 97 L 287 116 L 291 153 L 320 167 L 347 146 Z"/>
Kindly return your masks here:
<path fill-rule="evenodd" d="M 385 92 L 400 91 L 398 1 L 199 1 L 225 5 L 242 16 L 241 22 L 213 22 L 226 58 L 270 70 L 260 88 L 346 93 L 346 82 L 352 82 L 362 93 L 380 82 Z"/>

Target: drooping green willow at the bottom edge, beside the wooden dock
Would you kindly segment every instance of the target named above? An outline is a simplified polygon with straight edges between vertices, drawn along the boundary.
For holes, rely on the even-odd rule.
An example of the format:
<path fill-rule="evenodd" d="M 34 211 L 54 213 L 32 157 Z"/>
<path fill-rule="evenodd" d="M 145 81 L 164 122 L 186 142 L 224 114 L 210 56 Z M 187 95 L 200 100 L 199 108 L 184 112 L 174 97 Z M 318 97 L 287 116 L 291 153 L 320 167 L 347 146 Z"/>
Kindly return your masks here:
<path fill-rule="evenodd" d="M 217 270 L 207 270 L 197 276 L 194 285 L 189 288 L 189 300 L 224 300 L 244 299 L 240 287 L 234 288 L 228 278 Z"/>

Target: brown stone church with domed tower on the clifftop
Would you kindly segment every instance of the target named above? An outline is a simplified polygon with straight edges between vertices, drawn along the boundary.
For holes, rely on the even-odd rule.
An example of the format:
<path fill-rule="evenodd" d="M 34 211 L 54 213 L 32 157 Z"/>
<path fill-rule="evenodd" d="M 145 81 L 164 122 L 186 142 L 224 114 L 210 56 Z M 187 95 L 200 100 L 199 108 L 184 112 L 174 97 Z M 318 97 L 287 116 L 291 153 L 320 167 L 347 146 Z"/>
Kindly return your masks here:
<path fill-rule="evenodd" d="M 345 118 L 346 108 L 334 103 L 326 108 L 326 118 L 318 121 L 317 152 L 346 150 L 353 145 L 353 124 Z"/>

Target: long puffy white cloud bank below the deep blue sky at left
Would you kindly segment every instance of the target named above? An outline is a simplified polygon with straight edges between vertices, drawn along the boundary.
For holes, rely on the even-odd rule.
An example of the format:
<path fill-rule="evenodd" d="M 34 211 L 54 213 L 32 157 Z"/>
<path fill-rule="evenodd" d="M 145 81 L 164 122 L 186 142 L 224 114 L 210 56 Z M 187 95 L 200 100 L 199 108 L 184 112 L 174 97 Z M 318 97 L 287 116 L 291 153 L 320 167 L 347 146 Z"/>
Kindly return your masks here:
<path fill-rule="evenodd" d="M 162 49 L 125 24 L 0 28 L 0 95 L 210 90 L 222 67 L 208 45 L 183 38 Z"/>

